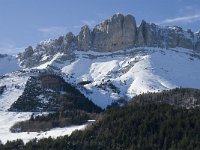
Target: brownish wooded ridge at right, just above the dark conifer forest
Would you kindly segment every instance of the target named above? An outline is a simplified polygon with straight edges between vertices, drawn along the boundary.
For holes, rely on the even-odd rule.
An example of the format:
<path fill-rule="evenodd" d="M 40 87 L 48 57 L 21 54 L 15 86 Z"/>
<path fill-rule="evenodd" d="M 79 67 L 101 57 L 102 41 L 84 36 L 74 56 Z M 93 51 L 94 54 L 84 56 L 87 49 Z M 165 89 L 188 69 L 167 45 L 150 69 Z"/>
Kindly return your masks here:
<path fill-rule="evenodd" d="M 145 93 L 135 96 L 132 102 L 138 103 L 166 103 L 179 107 L 200 106 L 200 90 L 192 88 L 176 88 L 160 93 Z"/>

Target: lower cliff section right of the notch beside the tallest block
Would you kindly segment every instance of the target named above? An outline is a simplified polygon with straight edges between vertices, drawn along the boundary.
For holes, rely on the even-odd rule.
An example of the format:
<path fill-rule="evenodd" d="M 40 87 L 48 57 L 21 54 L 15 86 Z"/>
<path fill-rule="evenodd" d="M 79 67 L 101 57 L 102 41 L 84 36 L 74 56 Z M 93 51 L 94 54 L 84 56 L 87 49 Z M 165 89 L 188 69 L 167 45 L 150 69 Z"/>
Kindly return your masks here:
<path fill-rule="evenodd" d="M 194 33 L 181 27 L 161 28 L 142 21 L 138 28 L 137 46 L 194 49 Z"/>

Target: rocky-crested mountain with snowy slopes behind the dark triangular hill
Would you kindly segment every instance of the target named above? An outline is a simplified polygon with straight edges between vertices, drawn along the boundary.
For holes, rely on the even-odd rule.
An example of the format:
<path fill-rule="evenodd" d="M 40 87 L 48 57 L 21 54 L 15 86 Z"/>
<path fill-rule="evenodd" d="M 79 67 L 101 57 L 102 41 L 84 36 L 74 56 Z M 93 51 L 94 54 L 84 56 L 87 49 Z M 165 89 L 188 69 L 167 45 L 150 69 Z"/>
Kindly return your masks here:
<path fill-rule="evenodd" d="M 30 72 L 48 70 L 62 76 L 103 108 L 143 92 L 200 88 L 198 42 L 199 34 L 190 30 L 145 21 L 136 27 L 133 16 L 115 14 L 93 29 L 82 27 L 77 36 L 69 32 L 35 48 L 29 46 L 18 55 L 24 72 L 7 75 L 0 86 L 22 76 L 26 80 L 20 84 L 25 85 Z M 7 85 L 8 94 L 1 97 L 4 104 L 13 93 L 11 88 L 13 84 Z"/>

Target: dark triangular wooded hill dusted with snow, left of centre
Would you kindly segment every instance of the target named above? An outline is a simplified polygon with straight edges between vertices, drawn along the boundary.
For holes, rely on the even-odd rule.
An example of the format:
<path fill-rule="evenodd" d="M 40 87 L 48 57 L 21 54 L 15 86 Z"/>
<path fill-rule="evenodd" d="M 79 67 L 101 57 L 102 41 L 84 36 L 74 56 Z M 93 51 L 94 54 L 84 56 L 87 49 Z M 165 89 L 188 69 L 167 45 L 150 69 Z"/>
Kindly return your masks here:
<path fill-rule="evenodd" d="M 17 112 L 65 110 L 82 110 L 90 113 L 101 111 L 63 78 L 49 73 L 42 73 L 37 77 L 31 76 L 24 92 L 9 109 L 9 111 Z"/>

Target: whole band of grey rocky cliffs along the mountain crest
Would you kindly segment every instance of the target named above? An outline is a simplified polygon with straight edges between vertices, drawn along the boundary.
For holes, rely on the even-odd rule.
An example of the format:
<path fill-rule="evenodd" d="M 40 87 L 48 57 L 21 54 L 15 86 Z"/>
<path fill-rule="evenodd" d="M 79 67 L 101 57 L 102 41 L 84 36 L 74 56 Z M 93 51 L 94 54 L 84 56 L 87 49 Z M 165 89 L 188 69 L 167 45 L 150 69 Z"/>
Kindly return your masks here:
<path fill-rule="evenodd" d="M 200 51 L 200 33 L 184 31 L 177 26 L 160 27 L 145 21 L 137 27 L 133 16 L 115 14 L 93 29 L 83 26 L 77 36 L 69 32 L 66 36 L 40 43 L 35 49 L 29 46 L 24 53 L 19 54 L 19 59 L 22 66 L 32 67 L 38 61 L 52 59 L 58 52 L 71 54 L 73 50 L 117 51 L 143 46 L 182 47 Z"/>

